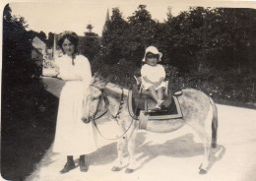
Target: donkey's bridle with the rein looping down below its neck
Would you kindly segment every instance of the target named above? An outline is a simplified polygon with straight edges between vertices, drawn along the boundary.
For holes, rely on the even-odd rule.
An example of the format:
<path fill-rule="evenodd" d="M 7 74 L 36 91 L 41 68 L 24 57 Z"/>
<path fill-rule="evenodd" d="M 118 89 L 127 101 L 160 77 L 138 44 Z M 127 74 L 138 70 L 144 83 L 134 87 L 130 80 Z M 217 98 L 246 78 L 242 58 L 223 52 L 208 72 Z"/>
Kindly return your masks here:
<path fill-rule="evenodd" d="M 90 85 L 90 86 L 96 88 L 96 89 L 99 90 L 99 91 L 101 91 L 101 96 L 100 96 L 100 99 L 99 99 L 99 101 L 98 101 L 98 103 L 97 103 L 97 106 L 96 106 L 96 112 L 97 112 L 98 107 L 99 107 L 99 105 L 100 105 L 100 101 L 101 101 L 102 99 L 104 99 L 104 97 L 102 97 L 102 96 L 104 96 L 104 92 L 103 92 L 102 90 L 100 90 L 99 88 L 97 88 L 96 86 L 94 86 L 94 85 Z M 120 98 L 120 103 L 119 103 L 118 111 L 117 111 L 117 113 L 116 113 L 114 116 L 111 115 L 111 118 L 114 119 L 116 122 L 118 122 L 118 119 L 120 118 L 119 114 L 121 113 L 121 109 L 123 108 L 123 104 L 124 104 L 124 100 L 123 100 L 123 98 L 124 98 L 124 91 L 123 91 L 122 88 L 121 88 L 121 90 L 122 90 L 122 94 L 121 94 L 121 98 Z M 94 125 L 96 126 L 96 130 L 97 130 L 98 134 L 99 134 L 101 137 L 103 137 L 104 139 L 106 139 L 106 140 L 118 140 L 118 139 L 120 139 L 120 138 L 125 139 L 124 135 L 125 135 L 125 134 L 129 131 L 129 129 L 131 128 L 134 119 L 132 119 L 131 124 L 129 125 L 128 129 L 127 129 L 121 136 L 119 136 L 119 137 L 117 137 L 117 138 L 114 138 L 114 139 L 112 139 L 112 138 L 106 138 L 105 136 L 103 136 L 103 135 L 100 133 L 100 131 L 99 131 L 97 125 L 96 125 L 96 119 L 99 119 L 100 117 L 102 117 L 102 116 L 103 116 L 104 114 L 106 114 L 107 112 L 108 112 L 108 109 L 106 109 L 102 114 L 100 114 L 100 115 L 97 116 L 97 117 L 96 117 L 96 114 L 95 114 L 95 116 L 94 116 L 94 118 L 93 118 L 93 123 L 94 123 Z"/>

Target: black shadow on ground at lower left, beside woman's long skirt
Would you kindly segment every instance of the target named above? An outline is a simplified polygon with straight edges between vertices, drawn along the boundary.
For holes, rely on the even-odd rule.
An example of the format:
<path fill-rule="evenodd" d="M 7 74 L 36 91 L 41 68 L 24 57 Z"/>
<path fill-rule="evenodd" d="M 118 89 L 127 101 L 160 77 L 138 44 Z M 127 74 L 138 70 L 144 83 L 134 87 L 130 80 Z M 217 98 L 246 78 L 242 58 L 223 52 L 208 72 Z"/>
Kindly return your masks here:
<path fill-rule="evenodd" d="M 2 101 L 1 176 L 6 180 L 24 180 L 53 142 L 58 98 L 40 86 Z"/>

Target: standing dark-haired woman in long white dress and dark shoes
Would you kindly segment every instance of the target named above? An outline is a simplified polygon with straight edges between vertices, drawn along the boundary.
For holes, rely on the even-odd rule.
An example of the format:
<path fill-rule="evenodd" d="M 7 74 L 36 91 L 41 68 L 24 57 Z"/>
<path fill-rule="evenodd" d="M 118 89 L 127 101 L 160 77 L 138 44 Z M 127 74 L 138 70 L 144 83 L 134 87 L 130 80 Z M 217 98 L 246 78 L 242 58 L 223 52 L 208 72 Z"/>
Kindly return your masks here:
<path fill-rule="evenodd" d="M 56 59 L 57 77 L 64 80 L 56 124 L 53 151 L 67 155 L 67 162 L 60 173 L 74 169 L 73 155 L 80 155 L 79 165 L 88 171 L 85 161 L 88 153 L 96 151 L 94 125 L 82 121 L 83 97 L 89 86 L 92 73 L 89 60 L 78 54 L 79 37 L 75 32 L 64 31 L 58 37 L 58 46 L 63 55 Z"/>

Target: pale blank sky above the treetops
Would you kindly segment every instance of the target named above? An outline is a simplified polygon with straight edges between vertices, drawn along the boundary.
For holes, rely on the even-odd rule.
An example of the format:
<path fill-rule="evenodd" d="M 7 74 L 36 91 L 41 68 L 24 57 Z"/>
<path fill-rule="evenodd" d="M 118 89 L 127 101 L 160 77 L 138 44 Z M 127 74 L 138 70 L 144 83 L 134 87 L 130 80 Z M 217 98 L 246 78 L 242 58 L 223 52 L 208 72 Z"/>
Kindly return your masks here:
<path fill-rule="evenodd" d="M 84 35 L 87 25 L 93 25 L 93 31 L 101 35 L 107 9 L 111 16 L 112 8 L 118 7 L 123 18 L 132 16 L 140 4 L 147 5 L 152 18 L 163 22 L 166 20 L 167 8 L 172 15 L 187 11 L 189 6 L 204 7 L 250 7 L 256 8 L 256 1 L 203 1 L 203 0 L 4 0 L 9 3 L 12 15 L 24 17 L 29 30 L 59 33 L 73 30 Z"/>

